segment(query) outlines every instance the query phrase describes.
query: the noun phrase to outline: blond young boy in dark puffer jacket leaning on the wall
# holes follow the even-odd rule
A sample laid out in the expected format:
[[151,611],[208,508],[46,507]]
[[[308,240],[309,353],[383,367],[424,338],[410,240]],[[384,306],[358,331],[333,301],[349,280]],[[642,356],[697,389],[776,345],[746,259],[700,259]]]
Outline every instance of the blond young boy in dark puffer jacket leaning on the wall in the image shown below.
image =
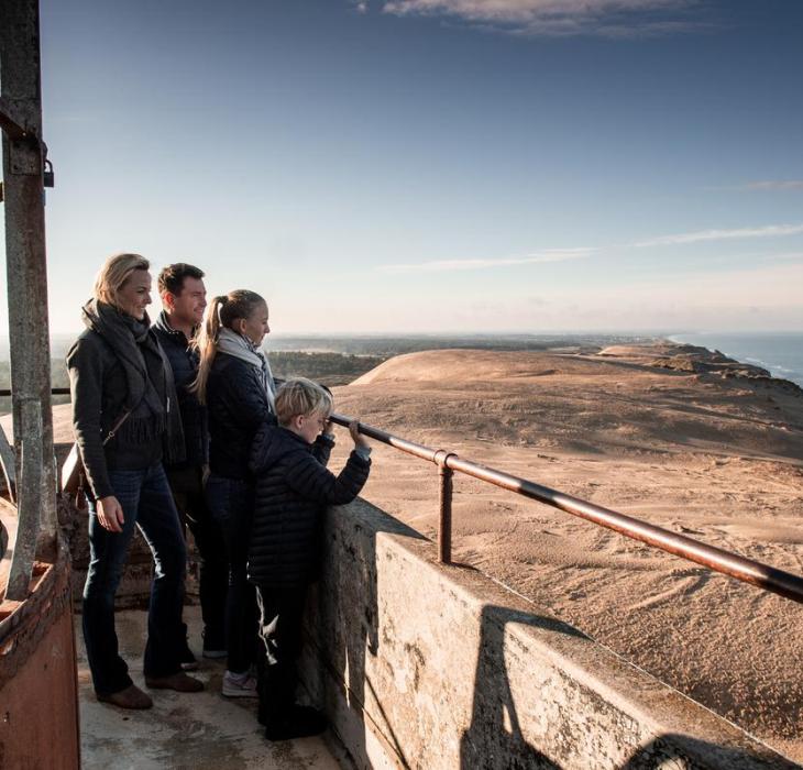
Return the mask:
[[307,586],[318,565],[321,517],[328,505],[353,501],[371,469],[371,448],[349,426],[354,450],[340,475],[326,468],[334,444],[331,396],[309,380],[276,393],[277,426],[263,425],[251,451],[255,480],[249,580],[260,605],[260,723],[268,740],[317,735],[323,715],[295,702],[296,658]]

